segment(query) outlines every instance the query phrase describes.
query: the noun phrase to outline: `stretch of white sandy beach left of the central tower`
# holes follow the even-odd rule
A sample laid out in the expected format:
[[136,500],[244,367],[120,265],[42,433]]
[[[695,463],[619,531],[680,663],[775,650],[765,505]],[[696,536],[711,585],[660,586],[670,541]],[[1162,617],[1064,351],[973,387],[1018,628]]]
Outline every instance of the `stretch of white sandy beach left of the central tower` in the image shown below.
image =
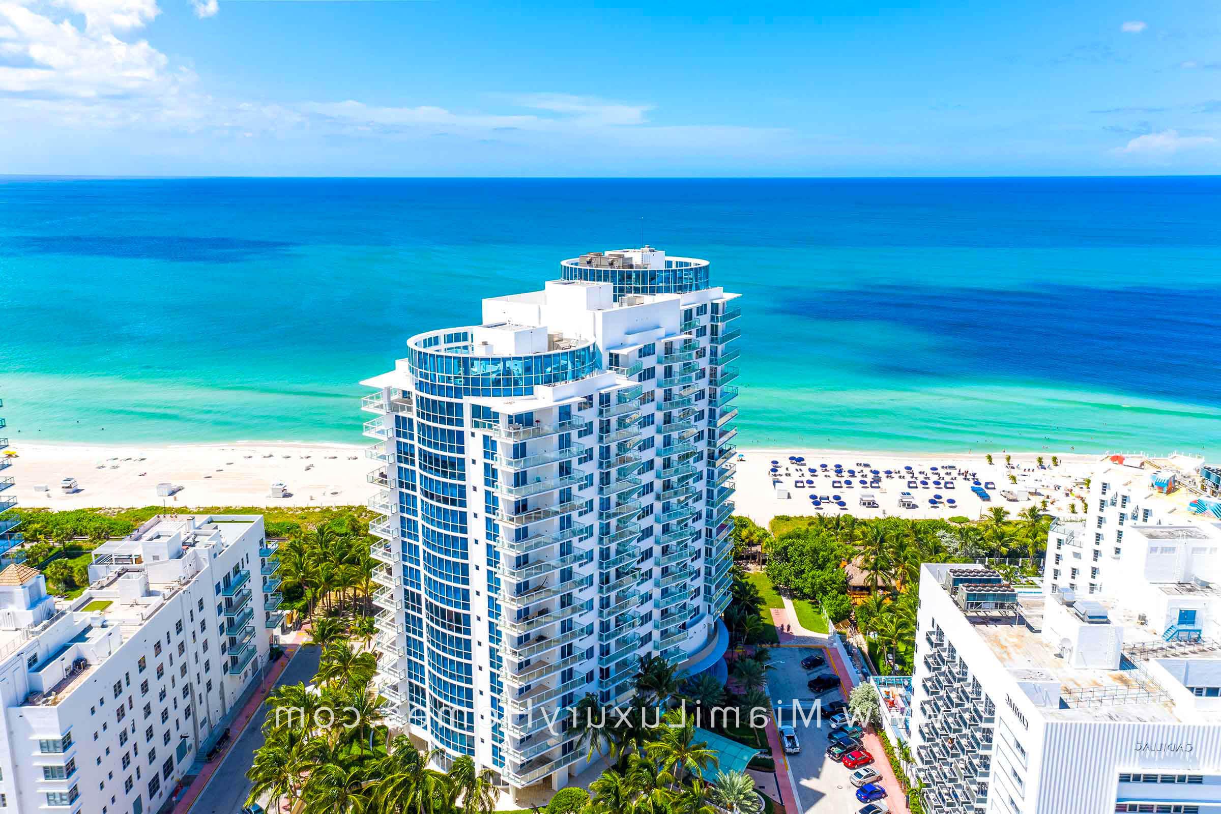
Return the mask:
[[[18,458],[5,470],[16,478],[20,505],[271,506],[355,505],[376,491],[365,476],[377,461],[349,444],[233,443],[182,445],[76,445],[16,442]],[[67,494],[60,481],[74,477]],[[159,497],[158,483],[181,487]],[[291,497],[272,498],[282,482]],[[38,487],[45,486],[46,491]]]

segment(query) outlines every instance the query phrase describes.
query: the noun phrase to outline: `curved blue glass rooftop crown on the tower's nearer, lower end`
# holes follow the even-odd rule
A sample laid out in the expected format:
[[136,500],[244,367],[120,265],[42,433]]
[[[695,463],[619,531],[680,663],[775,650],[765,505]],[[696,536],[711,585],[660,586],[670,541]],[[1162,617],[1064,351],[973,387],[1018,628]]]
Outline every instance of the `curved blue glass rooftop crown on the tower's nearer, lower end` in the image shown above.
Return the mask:
[[429,395],[530,395],[535,384],[558,384],[598,371],[601,354],[591,342],[569,350],[521,356],[473,356],[469,331],[426,333],[408,340],[415,389]]

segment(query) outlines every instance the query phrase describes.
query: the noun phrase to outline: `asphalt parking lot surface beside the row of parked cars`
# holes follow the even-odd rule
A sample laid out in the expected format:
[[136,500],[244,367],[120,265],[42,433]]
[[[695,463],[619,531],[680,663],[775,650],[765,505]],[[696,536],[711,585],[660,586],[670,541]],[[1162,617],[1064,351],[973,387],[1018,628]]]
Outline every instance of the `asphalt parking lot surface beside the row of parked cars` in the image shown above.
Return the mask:
[[[807,655],[821,654],[825,664],[813,670],[805,670],[801,660]],[[844,814],[856,812],[861,803],[856,801],[855,787],[849,782],[852,773],[827,757],[828,724],[819,727],[817,707],[830,701],[842,699],[839,690],[833,690],[817,698],[806,688],[806,682],[822,674],[834,674],[827,649],[822,647],[779,647],[772,650],[772,664],[775,670],[768,680],[773,704],[780,704],[778,718],[781,724],[795,724],[797,740],[801,741],[799,754],[786,755],[792,779],[797,787],[797,802],[801,814]],[[806,722],[794,722],[792,702],[797,702]],[[813,716],[811,718],[811,713]],[[779,762],[777,770],[783,771]],[[781,777],[781,782],[786,779]]]

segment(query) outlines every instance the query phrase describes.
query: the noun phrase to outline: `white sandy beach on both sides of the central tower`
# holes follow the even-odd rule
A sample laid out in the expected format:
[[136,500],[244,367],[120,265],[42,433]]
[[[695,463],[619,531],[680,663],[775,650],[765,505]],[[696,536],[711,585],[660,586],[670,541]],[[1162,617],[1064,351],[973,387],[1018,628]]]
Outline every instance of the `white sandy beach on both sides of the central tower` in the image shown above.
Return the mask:
[[[181,444],[181,445],[76,445],[16,443],[12,447],[18,453],[13,466],[5,475],[16,478],[15,491],[20,505],[51,506],[55,509],[78,509],[84,506],[144,506],[162,504],[166,506],[210,506],[210,505],[357,505],[365,503],[376,491],[366,481],[366,475],[379,469],[377,461],[364,456],[364,448],[349,444],[309,444],[309,443],[270,443],[248,442],[231,444]],[[797,466],[789,463],[790,455],[806,459],[801,478],[813,478],[813,487],[796,488]],[[1090,464],[1100,455],[1062,455],[1060,465],[1040,470],[1035,455],[1015,454],[1015,469],[1006,470],[1004,453],[993,453],[994,464],[989,466],[983,455],[941,454],[941,453],[868,453],[850,450],[818,449],[742,449],[737,461],[737,474],[734,482],[737,493],[734,498],[737,514],[746,515],[759,524],[766,524],[775,515],[813,515],[808,494],[839,494],[847,504],[844,509],[829,505],[818,514],[852,514],[858,517],[904,516],[904,517],[950,517],[966,515],[978,517],[989,505],[1001,505],[1017,514],[1032,503],[1044,497],[1051,510],[1067,511],[1066,502],[1073,483],[1087,475]],[[770,475],[772,460],[780,461],[779,476]],[[1044,463],[1050,464],[1050,454],[1044,454]],[[868,469],[902,472],[911,466],[918,474],[929,472],[929,486],[908,488],[907,478],[883,476],[880,488],[855,486],[853,488],[833,488],[833,480],[822,474],[810,475],[808,467],[828,464],[829,469],[839,463],[844,469],[860,469],[857,464],[869,464]],[[932,475],[929,467],[937,466],[938,474],[947,465],[958,471],[978,472],[980,481],[993,481],[991,502],[983,503],[972,494],[969,480],[955,481],[952,491],[933,484],[941,480]],[[1009,482],[1009,475],[1018,478],[1016,486]],[[60,481],[74,477],[79,489],[66,494],[60,488]],[[860,480],[860,478],[856,478]],[[159,497],[159,483],[173,483],[181,487],[173,497]],[[272,498],[271,483],[282,482],[291,497]],[[777,497],[775,484],[779,482],[788,492],[788,499]],[[943,481],[944,482],[944,481]],[[45,486],[46,489],[38,487]],[[1060,487],[1059,489],[1056,487]],[[1038,491],[1042,494],[1029,499],[1010,502],[1001,491]],[[911,492],[917,508],[901,509],[900,494]],[[877,508],[860,504],[862,494],[872,494]],[[950,506],[944,500],[937,506],[928,499],[934,494],[954,498],[956,505]]]

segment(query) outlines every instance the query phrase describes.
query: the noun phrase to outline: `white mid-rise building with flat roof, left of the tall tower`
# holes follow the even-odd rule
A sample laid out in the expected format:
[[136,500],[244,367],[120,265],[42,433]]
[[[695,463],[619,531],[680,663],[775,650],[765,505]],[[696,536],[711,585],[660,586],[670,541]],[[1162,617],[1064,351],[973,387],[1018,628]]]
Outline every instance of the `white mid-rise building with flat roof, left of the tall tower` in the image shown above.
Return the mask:
[[276,565],[261,516],[159,516],[76,599],[0,571],[0,812],[159,810],[266,666]]

